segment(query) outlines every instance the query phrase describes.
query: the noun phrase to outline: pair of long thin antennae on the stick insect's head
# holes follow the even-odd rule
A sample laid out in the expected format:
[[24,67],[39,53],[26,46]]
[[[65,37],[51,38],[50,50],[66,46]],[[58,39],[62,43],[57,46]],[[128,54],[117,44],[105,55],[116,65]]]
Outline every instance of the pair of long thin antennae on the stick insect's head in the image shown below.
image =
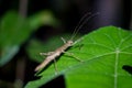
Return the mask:
[[87,18],[88,14],[91,14],[91,13],[87,12],[87,13],[80,19],[79,23],[77,24],[77,26],[75,28],[75,30],[74,30],[74,32],[73,32],[73,35],[72,35],[70,40],[73,40],[73,38],[76,36],[76,34],[78,33],[78,31],[82,28],[82,25],[84,25],[89,19],[96,16],[97,14],[99,14],[99,12],[97,12],[97,13],[90,15],[89,18]]

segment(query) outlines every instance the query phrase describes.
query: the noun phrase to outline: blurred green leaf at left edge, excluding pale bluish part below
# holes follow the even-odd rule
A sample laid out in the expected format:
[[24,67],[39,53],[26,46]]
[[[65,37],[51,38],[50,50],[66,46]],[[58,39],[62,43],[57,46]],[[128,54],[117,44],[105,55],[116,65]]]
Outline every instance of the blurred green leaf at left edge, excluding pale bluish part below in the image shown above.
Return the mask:
[[0,28],[1,46],[21,44],[32,31],[24,18],[11,11],[2,18]]

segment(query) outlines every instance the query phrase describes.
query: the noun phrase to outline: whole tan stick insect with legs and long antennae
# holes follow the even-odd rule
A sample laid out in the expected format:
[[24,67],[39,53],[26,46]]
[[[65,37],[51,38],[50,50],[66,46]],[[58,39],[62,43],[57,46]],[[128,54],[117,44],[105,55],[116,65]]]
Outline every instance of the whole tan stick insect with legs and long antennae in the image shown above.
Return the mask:
[[[61,54],[63,54],[63,53],[67,53],[67,52],[65,52],[65,51],[66,51],[68,47],[70,47],[70,46],[74,45],[74,41],[73,41],[73,40],[74,40],[74,37],[76,36],[76,34],[78,33],[78,31],[82,28],[82,25],[84,25],[90,18],[92,18],[92,16],[95,16],[95,15],[97,15],[97,13],[96,13],[96,14],[92,14],[92,15],[89,16],[89,18],[87,18],[87,16],[88,16],[88,13],[85,14],[85,15],[80,19],[78,25],[75,28],[70,40],[69,40],[69,41],[65,41],[65,40],[62,37],[62,40],[63,40],[63,42],[64,42],[64,45],[63,45],[63,46],[56,48],[54,52],[40,53],[41,55],[46,55],[47,57],[46,57],[38,66],[36,66],[36,68],[35,68],[34,70],[37,72],[37,70],[44,68],[44,67],[45,67],[46,65],[48,65],[52,61],[54,61],[54,64],[55,64],[55,63],[56,63],[55,58],[58,57],[58,56],[61,56]],[[85,19],[86,19],[86,21],[84,21]],[[82,21],[84,21],[84,22],[82,22]],[[68,53],[67,53],[67,54],[68,54]],[[74,57],[74,58],[76,58],[77,61],[81,62],[81,61],[80,61],[79,58],[77,58],[77,57]],[[57,70],[56,65],[55,65],[55,70]]]

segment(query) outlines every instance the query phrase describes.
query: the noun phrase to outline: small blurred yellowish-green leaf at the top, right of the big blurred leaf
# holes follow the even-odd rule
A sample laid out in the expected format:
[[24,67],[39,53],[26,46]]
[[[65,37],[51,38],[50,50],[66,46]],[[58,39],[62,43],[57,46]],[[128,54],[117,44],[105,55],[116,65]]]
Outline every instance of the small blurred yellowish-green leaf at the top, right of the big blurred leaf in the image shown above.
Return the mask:
[[37,29],[42,25],[57,26],[59,24],[58,20],[55,18],[52,11],[44,10],[29,18],[30,25],[32,29]]

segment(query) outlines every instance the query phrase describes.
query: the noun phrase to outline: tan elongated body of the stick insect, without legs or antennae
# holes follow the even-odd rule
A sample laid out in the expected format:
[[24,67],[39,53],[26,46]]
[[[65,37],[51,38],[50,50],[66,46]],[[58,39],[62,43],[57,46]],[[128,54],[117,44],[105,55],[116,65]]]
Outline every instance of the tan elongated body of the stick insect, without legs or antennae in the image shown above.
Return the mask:
[[[73,41],[67,41],[63,46],[61,46],[59,48],[57,48],[55,52],[47,53],[47,57],[45,58],[45,61],[42,64],[40,64],[35,68],[35,72],[44,68],[48,63],[51,63],[52,61],[54,61],[57,56],[59,56],[62,53],[64,53],[65,50],[67,50],[72,45],[73,45]],[[44,53],[41,53],[41,54],[44,54]]]

